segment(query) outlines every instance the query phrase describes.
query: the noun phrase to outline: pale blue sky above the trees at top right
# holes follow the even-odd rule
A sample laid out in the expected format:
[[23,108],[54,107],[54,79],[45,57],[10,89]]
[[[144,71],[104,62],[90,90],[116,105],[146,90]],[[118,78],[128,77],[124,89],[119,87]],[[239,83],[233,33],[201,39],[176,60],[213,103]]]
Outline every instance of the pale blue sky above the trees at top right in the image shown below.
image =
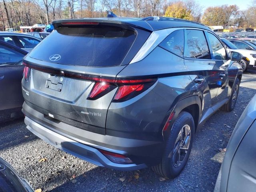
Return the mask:
[[196,0],[199,4],[204,6],[204,10],[209,6],[220,6],[223,4],[236,4],[240,10],[245,10],[251,5],[251,0]]

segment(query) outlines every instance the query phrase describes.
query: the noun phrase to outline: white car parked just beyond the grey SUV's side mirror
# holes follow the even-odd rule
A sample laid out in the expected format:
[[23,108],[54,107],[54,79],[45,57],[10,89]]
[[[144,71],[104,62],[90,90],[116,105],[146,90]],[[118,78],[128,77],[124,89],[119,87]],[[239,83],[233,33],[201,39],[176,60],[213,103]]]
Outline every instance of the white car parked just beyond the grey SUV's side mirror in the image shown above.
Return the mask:
[[254,58],[254,56],[256,56],[256,51],[246,50],[246,49],[238,49],[229,40],[224,39],[224,38],[220,38],[220,39],[226,45],[228,52],[236,51],[243,55],[243,58],[240,61],[238,61],[238,63],[240,64],[240,66],[243,69],[243,72],[247,70],[248,66],[252,66],[252,67],[254,66],[254,64],[256,62],[256,58]]

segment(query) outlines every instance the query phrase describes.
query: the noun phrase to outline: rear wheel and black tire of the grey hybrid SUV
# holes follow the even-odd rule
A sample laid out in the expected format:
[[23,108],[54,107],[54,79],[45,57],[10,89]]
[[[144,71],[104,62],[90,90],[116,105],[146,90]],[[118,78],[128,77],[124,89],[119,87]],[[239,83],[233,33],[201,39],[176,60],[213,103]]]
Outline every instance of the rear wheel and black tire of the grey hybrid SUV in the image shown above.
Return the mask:
[[[188,133],[187,136],[189,137],[184,137],[186,135],[185,132]],[[192,115],[188,112],[182,111],[172,126],[160,164],[152,166],[152,170],[164,178],[177,177],[182,172],[188,161],[188,157],[192,149],[194,132],[195,124]],[[187,150],[179,148],[182,143],[181,135],[183,135],[183,138],[188,138],[188,142],[183,142],[182,146],[182,148],[187,148]],[[184,139],[184,141],[185,140],[186,139]],[[182,162],[177,161],[179,154]]]

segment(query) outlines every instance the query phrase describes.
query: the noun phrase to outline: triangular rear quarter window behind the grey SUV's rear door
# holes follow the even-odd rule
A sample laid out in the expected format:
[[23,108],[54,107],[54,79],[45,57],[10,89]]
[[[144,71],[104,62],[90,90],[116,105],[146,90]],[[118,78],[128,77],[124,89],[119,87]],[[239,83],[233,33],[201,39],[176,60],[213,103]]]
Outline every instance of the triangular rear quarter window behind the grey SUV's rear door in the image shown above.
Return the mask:
[[180,57],[184,54],[184,30],[176,30],[168,35],[160,44],[160,47]]

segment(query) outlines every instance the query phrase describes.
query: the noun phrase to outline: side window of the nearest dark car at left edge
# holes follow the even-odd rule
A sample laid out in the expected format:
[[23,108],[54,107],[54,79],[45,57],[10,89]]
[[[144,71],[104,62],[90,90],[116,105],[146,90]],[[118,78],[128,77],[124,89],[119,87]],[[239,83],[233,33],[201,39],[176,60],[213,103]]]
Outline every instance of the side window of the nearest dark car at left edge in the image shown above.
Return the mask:
[[6,65],[22,65],[24,54],[0,45],[0,67]]

